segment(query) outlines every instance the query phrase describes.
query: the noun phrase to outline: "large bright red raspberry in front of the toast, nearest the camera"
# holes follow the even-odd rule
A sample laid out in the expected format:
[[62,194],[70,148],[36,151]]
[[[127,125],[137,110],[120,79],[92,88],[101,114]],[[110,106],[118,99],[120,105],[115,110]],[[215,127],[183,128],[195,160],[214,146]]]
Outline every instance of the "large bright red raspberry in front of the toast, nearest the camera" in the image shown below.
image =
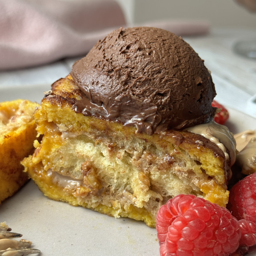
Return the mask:
[[239,223],[224,207],[177,195],[157,212],[161,256],[228,256],[239,247]]

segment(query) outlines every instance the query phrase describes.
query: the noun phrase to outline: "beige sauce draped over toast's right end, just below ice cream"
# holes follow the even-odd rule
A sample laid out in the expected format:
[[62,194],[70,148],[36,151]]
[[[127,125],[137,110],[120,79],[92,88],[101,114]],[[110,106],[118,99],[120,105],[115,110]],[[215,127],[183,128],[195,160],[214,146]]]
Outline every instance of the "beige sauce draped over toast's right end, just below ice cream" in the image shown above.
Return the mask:
[[[219,125],[216,122],[211,121],[205,124],[186,128],[185,131],[200,134],[201,136],[204,136],[211,142],[215,143],[223,151],[226,160],[230,157],[231,166],[235,163],[236,140],[225,125]],[[226,148],[228,149],[230,155],[227,153]]]

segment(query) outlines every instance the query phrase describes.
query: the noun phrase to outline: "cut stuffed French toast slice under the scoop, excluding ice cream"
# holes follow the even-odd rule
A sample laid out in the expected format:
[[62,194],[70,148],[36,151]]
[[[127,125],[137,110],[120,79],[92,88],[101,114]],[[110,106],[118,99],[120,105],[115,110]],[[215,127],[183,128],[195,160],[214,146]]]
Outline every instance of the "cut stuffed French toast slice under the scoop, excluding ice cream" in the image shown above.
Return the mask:
[[22,163],[44,195],[150,227],[159,207],[181,193],[227,204],[230,166],[217,145],[188,131],[148,135],[76,113],[80,93],[69,75],[35,112],[44,137]]

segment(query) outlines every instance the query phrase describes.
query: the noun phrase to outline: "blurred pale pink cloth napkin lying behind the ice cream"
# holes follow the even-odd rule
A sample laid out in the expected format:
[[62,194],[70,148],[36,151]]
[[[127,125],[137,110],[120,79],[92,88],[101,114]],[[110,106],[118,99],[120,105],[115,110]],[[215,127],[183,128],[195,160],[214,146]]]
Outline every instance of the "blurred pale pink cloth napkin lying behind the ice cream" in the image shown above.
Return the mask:
[[[85,55],[113,29],[126,26],[114,0],[0,0],[0,70],[32,67]],[[207,23],[157,21],[140,24],[177,35],[207,33]]]

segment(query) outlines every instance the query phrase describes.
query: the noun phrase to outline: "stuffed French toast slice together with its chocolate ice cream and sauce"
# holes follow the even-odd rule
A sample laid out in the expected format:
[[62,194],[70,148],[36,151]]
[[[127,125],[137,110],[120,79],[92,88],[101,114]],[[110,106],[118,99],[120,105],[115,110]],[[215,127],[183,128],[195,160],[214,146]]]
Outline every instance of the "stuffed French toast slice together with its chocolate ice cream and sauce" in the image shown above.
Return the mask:
[[193,194],[225,206],[236,143],[213,121],[204,61],[163,29],[120,28],[52,84],[35,112],[26,172],[49,198],[156,224]]

